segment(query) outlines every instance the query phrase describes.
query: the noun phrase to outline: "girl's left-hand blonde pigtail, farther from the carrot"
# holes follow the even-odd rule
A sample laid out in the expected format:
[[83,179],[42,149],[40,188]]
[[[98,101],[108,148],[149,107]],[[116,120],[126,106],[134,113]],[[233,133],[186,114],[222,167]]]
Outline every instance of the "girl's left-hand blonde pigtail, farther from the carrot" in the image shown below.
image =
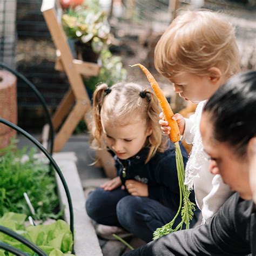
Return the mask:
[[100,121],[100,111],[107,89],[108,87],[106,84],[100,84],[96,87],[96,90],[93,93],[90,143],[94,149],[100,149],[102,147],[102,123]]

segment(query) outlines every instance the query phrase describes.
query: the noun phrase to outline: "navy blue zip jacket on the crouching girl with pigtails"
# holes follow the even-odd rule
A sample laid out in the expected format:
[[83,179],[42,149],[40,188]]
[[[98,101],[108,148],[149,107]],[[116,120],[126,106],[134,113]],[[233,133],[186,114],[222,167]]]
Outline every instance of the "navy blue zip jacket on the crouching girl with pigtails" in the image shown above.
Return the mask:
[[[184,165],[187,162],[187,152],[180,144],[183,154]],[[113,152],[111,152],[112,155]],[[134,179],[147,184],[149,198],[159,201],[172,210],[179,207],[179,183],[176,169],[176,155],[173,143],[169,142],[165,152],[157,152],[148,163],[145,160],[149,148],[144,147],[136,156],[129,159],[119,159],[114,155],[117,174],[123,185],[128,179]],[[191,201],[195,203],[194,192],[190,195]]]

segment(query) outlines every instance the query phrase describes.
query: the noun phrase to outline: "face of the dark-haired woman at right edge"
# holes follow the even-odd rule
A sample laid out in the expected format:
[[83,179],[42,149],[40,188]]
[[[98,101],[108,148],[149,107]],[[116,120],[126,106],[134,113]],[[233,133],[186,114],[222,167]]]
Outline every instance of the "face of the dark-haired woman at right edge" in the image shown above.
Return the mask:
[[231,145],[213,139],[212,125],[209,116],[203,113],[200,132],[204,150],[210,157],[210,172],[220,174],[231,190],[237,191],[243,199],[252,199],[248,174],[247,158],[238,157]]

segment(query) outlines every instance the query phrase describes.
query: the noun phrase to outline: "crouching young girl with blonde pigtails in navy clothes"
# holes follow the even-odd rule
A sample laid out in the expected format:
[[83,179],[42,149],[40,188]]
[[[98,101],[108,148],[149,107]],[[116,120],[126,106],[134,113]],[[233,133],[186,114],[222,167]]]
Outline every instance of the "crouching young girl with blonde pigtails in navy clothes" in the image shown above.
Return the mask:
[[[111,226],[109,234],[124,230],[149,242],[156,228],[176,215],[180,200],[175,151],[158,125],[157,98],[150,87],[135,83],[102,84],[93,94],[92,111],[91,145],[110,150],[117,177],[89,194],[87,214]],[[181,151],[186,164],[182,146]],[[197,218],[198,211],[191,226]]]

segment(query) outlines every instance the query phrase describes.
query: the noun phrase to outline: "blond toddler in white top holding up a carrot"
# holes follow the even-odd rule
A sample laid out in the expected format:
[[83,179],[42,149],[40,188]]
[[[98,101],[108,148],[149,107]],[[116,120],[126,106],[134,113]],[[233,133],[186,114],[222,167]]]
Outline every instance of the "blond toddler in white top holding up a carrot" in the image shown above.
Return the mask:
[[[209,10],[186,11],[170,24],[159,39],[154,62],[161,75],[173,83],[179,96],[198,103],[189,118],[174,114],[180,133],[193,144],[186,165],[185,184],[194,188],[203,220],[212,217],[232,191],[220,175],[208,172],[211,160],[203,150],[199,123],[204,105],[225,81],[239,72],[239,53],[232,24],[223,15]],[[170,127],[160,114],[165,134]]]

